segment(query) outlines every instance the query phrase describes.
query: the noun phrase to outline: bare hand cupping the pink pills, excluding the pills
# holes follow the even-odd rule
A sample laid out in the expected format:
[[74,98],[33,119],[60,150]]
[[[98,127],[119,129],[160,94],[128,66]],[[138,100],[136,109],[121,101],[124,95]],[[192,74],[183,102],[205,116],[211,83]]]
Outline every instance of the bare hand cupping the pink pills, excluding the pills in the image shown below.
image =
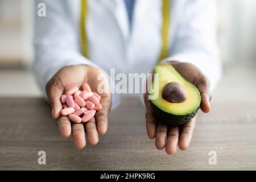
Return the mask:
[[[97,86],[102,80],[97,80],[97,76],[102,74],[101,69],[89,67],[86,65],[68,66],[60,69],[46,85],[46,92],[49,104],[52,108],[52,117],[57,119],[60,134],[68,138],[71,134],[73,142],[77,149],[84,148],[86,145],[85,131],[88,143],[95,145],[98,143],[98,133],[104,135],[108,129],[108,115],[111,107],[111,94],[98,93]],[[101,105],[103,106],[96,115],[86,123],[72,123],[68,117],[60,115],[63,109],[60,97],[68,89],[87,82],[94,92],[101,96]],[[104,85],[109,86],[108,80],[104,79]]]

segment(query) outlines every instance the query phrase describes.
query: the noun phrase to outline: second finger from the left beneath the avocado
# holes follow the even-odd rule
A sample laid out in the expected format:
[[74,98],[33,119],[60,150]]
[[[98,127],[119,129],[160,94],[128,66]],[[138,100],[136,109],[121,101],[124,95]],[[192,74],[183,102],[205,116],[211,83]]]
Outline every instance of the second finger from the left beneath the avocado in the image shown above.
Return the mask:
[[167,125],[158,123],[155,134],[155,146],[158,150],[163,150],[166,146]]

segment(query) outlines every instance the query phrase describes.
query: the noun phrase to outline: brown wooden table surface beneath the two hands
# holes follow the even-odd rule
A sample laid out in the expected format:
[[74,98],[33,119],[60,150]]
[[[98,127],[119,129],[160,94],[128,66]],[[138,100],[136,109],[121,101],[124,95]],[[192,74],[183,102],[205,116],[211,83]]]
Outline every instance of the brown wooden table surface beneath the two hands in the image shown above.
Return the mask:
[[[108,133],[84,150],[60,137],[42,98],[0,98],[0,169],[256,169],[255,104],[213,102],[211,113],[197,119],[189,150],[168,156],[147,138],[137,98],[123,98]],[[46,152],[46,165],[38,164],[38,151]],[[216,165],[209,151],[216,151]]]

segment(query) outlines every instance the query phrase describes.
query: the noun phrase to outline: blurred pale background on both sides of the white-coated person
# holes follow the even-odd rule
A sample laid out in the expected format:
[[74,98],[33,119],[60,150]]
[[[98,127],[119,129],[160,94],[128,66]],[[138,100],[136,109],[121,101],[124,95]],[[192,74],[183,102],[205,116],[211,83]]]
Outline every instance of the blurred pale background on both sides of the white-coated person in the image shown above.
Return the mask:
[[[215,100],[256,100],[256,1],[217,0],[224,77]],[[32,64],[32,0],[0,0],[0,96],[41,96]]]

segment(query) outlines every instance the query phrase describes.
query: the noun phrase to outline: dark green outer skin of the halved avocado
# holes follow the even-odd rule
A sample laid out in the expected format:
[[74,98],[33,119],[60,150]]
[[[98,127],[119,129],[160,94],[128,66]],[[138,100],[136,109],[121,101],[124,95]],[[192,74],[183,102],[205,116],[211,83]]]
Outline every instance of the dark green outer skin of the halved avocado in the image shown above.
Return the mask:
[[199,110],[199,107],[198,107],[197,109],[193,110],[192,113],[189,113],[186,115],[173,115],[159,109],[151,101],[150,101],[150,104],[157,121],[166,123],[169,126],[185,125],[185,123],[191,121],[191,119],[195,117],[197,111]]

